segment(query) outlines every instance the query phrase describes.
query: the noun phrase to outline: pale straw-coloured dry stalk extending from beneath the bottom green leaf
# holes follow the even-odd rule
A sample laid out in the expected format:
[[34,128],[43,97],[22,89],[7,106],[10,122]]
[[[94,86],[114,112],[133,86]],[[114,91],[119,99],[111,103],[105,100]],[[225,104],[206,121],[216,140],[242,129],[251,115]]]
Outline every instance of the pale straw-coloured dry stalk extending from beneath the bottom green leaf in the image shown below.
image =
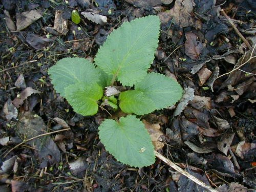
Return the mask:
[[170,167],[174,168],[175,170],[177,170],[177,172],[179,172],[180,174],[186,176],[188,179],[191,179],[192,181],[194,181],[195,183],[197,183],[198,185],[201,185],[202,187],[208,189],[211,192],[218,192],[218,190],[212,188],[209,185],[206,185],[204,182],[200,181],[199,179],[197,179],[196,177],[194,177],[193,175],[190,175],[189,173],[185,172],[185,170],[183,170],[182,168],[180,168],[179,166],[177,166],[176,164],[174,164],[172,161],[170,161],[169,159],[167,159],[166,157],[162,156],[160,153],[158,153],[157,151],[154,151],[155,155],[161,159],[162,161],[164,161],[167,165],[169,165]]

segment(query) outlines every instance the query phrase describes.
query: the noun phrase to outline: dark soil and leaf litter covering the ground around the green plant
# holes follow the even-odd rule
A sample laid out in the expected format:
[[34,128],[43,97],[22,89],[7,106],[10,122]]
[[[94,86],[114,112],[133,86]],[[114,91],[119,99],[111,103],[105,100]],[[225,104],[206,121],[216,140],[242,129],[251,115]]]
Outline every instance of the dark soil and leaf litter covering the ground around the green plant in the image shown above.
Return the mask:
[[[212,2],[216,1],[2,0],[0,191],[206,191],[159,159],[143,168],[116,161],[97,135],[107,114],[74,113],[55,93],[47,73],[64,57],[93,60],[113,29],[146,15],[159,15],[161,20],[150,71],[176,78],[186,93],[184,110],[175,117],[175,107],[142,117],[161,125],[164,147],[159,153],[219,191],[256,189],[256,59],[251,58],[255,2]],[[30,10],[41,17],[25,29],[11,29],[12,22],[17,27],[18,16]],[[78,25],[71,21],[72,10],[81,16]],[[53,29],[57,11],[63,19],[59,22],[68,26],[62,34]],[[95,24],[82,11],[107,16],[108,22]],[[68,127],[71,130],[61,131]],[[59,132],[15,147],[53,131]]]

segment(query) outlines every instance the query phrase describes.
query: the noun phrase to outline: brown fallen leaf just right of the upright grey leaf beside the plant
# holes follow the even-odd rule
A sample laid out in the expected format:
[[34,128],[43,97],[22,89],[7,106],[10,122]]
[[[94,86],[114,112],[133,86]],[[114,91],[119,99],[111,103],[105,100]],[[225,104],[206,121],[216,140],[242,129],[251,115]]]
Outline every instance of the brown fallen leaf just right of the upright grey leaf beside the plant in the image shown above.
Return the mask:
[[189,104],[197,110],[202,110],[203,108],[211,110],[211,98],[210,97],[203,97],[200,95],[195,95],[194,99],[189,101]]

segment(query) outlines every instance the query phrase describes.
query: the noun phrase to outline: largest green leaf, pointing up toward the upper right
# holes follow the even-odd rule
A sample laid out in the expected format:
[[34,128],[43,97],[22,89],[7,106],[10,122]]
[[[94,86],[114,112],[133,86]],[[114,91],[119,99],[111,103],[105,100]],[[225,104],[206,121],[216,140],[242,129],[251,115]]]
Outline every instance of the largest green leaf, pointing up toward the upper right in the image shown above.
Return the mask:
[[153,15],[123,23],[98,50],[96,65],[123,86],[133,86],[153,62],[159,30],[160,20]]

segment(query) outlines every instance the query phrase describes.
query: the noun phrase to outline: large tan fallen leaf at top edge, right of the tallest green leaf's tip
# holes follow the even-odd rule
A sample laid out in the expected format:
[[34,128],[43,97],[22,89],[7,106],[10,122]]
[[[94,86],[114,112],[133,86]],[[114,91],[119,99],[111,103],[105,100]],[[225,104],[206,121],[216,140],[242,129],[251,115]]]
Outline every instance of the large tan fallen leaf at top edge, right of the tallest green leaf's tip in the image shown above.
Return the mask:
[[194,19],[191,16],[193,7],[196,4],[193,0],[176,0],[174,7],[170,10],[174,22],[180,27],[188,27],[194,25]]

